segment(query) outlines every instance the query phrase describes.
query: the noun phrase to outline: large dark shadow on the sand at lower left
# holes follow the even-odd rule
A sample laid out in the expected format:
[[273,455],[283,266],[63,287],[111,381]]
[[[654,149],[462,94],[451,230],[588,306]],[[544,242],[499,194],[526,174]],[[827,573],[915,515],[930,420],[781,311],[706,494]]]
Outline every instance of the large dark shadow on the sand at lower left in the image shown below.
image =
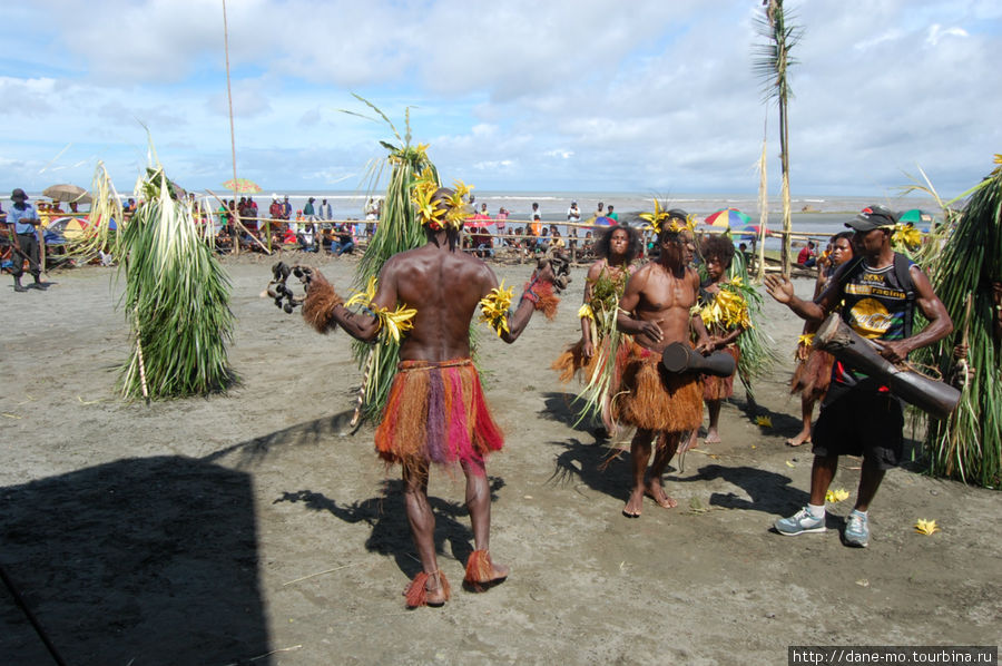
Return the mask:
[[[271,649],[252,492],[177,456],[9,486],[0,565],[69,664],[244,663]],[[0,663],[53,663],[3,587]]]

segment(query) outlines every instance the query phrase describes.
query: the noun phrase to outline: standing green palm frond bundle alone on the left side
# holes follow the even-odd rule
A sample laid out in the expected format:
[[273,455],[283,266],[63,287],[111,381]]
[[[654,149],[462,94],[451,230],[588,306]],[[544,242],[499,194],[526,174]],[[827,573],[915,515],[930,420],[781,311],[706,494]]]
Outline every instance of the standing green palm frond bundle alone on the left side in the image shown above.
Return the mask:
[[226,356],[234,329],[229,278],[163,167],[149,169],[136,194],[143,203],[117,246],[135,341],[121,393],[137,398],[144,383],[153,399],[225,389],[236,379]]

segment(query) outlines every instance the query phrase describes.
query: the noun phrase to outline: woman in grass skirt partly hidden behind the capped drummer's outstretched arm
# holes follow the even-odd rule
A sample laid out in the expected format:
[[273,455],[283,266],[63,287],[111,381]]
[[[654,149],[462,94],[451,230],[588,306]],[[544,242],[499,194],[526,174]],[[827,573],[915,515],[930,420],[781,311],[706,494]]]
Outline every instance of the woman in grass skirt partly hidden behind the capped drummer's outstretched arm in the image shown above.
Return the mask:
[[[853,258],[852,238],[852,232],[842,232],[832,237],[831,261],[827,266],[817,272],[817,282],[814,285],[815,298],[825,291],[835,270]],[[835,358],[811,346],[816,330],[817,324],[806,322],[804,333],[797,342],[797,369],[789,383],[789,392],[800,394],[800,417],[804,427],[796,437],[786,440],[786,444],[789,447],[811,443],[811,419],[814,415],[814,404],[824,399],[832,381],[832,366],[835,364]]]

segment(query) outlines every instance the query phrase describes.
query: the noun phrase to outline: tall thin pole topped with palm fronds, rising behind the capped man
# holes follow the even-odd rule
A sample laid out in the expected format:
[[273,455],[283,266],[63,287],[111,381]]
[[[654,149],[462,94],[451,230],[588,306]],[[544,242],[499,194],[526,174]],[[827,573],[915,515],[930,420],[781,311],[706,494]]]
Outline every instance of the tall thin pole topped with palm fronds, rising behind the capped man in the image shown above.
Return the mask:
[[789,51],[803,36],[802,28],[794,26],[789,12],[783,8],[783,0],[764,0],[765,12],[758,17],[758,31],[765,43],[755,47],[757,55],[754,70],[762,77],[766,101],[775,99],[779,106],[779,161],[783,168],[783,274],[789,275],[790,210],[789,210],[789,124],[787,102],[789,90],[788,69],[796,65]]

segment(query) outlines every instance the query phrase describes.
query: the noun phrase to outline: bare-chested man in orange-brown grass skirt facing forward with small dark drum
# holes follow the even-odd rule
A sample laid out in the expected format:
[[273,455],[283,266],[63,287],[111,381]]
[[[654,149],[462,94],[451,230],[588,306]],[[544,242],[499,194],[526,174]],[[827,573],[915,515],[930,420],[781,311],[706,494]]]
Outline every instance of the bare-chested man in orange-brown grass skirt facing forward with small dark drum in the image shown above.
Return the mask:
[[[619,330],[633,336],[622,370],[621,394],[612,408],[617,421],[637,427],[630,442],[633,486],[622,509],[627,518],[640,516],[645,494],[665,509],[677,506],[665,493],[661,474],[681,438],[703,421],[699,375],[669,375],[660,364],[661,352],[674,342],[690,344],[690,325],[698,337],[696,350],[704,353],[709,347],[703,320],[690,316],[699,292],[699,274],[687,265],[687,257],[696,251],[686,233],[687,214],[677,208],[658,213],[656,208],[650,217],[661,252],[657,262],[646,264],[630,277],[617,320]],[[648,470],[651,441],[656,451]]]

